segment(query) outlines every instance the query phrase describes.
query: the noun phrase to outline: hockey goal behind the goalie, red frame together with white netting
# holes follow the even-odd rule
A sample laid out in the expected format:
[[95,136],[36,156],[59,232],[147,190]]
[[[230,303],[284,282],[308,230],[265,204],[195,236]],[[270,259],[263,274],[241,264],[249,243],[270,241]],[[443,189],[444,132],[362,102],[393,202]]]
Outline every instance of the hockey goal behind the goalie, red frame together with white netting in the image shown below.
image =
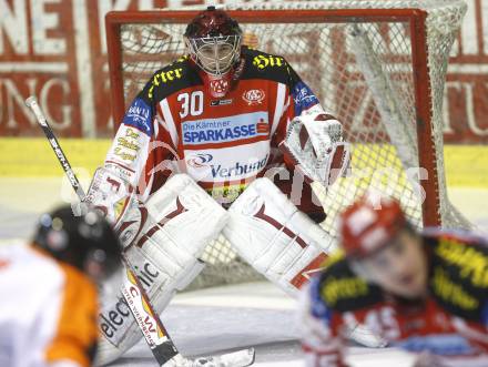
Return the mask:
[[[185,54],[182,34],[199,10],[113,11],[105,18],[112,112],[119,124],[151,75]],[[449,203],[443,161],[443,93],[460,0],[359,0],[231,4],[230,16],[283,55],[342,121],[352,174],[314,184],[336,235],[338,213],[366,190],[392,195],[417,227],[469,227]],[[254,63],[266,72],[265,60]],[[171,81],[170,81],[171,82]],[[206,249],[196,284],[255,278],[225,238]]]

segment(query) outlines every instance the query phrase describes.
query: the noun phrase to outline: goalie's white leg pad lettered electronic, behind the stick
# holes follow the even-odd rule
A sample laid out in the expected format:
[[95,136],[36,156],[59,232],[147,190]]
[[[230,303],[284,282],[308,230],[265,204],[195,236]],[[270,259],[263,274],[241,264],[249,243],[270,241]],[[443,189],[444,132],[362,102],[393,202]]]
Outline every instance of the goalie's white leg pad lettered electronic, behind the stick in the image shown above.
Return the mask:
[[[218,236],[228,214],[185,174],[171,177],[138,210],[148,212],[146,220],[125,254],[160,314],[202,271],[199,256]],[[114,360],[142,336],[122,295],[104,302],[100,328],[98,365]]]

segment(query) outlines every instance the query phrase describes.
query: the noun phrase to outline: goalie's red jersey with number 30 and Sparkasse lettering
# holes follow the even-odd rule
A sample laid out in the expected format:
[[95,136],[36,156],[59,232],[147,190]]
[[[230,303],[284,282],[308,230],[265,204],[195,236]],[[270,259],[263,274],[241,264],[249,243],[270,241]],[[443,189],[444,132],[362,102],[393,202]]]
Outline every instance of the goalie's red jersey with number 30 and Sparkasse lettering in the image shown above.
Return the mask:
[[232,202],[267,169],[283,165],[277,145],[288,122],[307,109],[322,110],[281,57],[243,48],[235,77],[216,99],[186,57],[155,72],[128,109],[105,166],[139,184],[142,195],[180,171],[222,203]]

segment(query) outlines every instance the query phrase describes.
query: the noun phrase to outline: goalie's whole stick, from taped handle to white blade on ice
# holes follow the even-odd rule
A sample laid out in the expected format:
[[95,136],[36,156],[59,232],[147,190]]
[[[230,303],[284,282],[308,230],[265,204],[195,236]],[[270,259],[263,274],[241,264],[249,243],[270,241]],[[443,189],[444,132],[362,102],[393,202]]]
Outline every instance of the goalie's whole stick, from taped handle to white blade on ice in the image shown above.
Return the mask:
[[[77,193],[80,202],[83,204],[85,193],[80,185],[70,162],[64,155],[58,139],[51,130],[48,121],[42,113],[34,96],[30,96],[26,100],[27,106],[29,106],[35,115],[39,125],[42,128],[45,137],[51,144],[58,161],[60,162],[64,173],[67,174],[71,186]],[[134,269],[129,263],[128,258],[122,253],[122,259],[126,267],[124,284],[122,285],[122,295],[130,306],[131,313],[138,323],[145,341],[148,343],[151,351],[160,366],[165,367],[245,367],[251,366],[254,363],[255,351],[254,348],[247,348],[237,350],[234,353],[227,353],[218,356],[206,356],[190,359],[183,357],[167,334],[163,323],[159,315],[154,312],[148,295],[144,292]]]

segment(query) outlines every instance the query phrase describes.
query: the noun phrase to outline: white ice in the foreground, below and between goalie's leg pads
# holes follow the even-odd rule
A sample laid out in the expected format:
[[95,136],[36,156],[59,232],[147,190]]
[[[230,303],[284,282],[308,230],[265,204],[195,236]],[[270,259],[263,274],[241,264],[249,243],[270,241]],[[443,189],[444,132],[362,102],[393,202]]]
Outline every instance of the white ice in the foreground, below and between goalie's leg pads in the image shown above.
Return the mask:
[[[240,306],[241,305],[241,306]],[[227,353],[253,346],[255,366],[303,366],[295,323],[295,300],[267,282],[176,295],[161,315],[184,356]],[[409,367],[413,357],[393,348],[350,348],[352,367]],[[141,340],[110,366],[154,366]]]

